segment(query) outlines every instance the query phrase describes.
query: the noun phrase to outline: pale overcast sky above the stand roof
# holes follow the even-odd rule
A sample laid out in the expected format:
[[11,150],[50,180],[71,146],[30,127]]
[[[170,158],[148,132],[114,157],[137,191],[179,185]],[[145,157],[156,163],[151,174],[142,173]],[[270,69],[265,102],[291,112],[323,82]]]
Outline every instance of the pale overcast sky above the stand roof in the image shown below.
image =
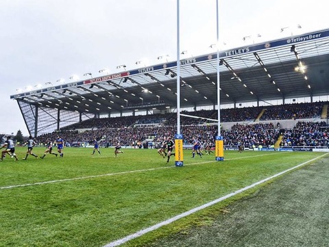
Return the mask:
[[[174,61],[176,6],[176,0],[0,0],[0,133],[29,134],[10,99],[18,88],[97,77],[103,68],[117,73],[121,64],[131,70],[139,60],[159,64],[160,55]],[[221,49],[326,29],[328,7],[328,0],[219,0]],[[216,0],[180,0],[180,51],[187,57],[212,52],[216,30]],[[251,38],[243,42],[244,36]]]

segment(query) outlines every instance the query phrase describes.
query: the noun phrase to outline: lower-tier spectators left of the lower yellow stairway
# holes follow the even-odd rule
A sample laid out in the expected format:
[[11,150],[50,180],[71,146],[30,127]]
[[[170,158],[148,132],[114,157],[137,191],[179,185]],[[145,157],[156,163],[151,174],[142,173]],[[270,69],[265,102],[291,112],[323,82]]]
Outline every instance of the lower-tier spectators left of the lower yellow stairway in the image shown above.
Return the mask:
[[[198,139],[201,142],[215,145],[215,136],[217,135],[217,125],[182,125],[180,131],[184,137],[185,144],[192,144],[193,140]],[[73,145],[77,142],[92,144],[96,138],[100,145],[106,144],[112,146],[117,142],[122,145],[136,145],[137,142],[151,140],[152,142],[161,142],[165,137],[175,135],[176,127],[156,126],[156,127],[128,127],[128,128],[110,128],[87,130],[82,133],[77,131],[60,131],[40,135],[38,143],[45,144],[49,140],[56,140],[58,135]],[[239,141],[244,146],[272,146],[278,139],[279,130],[274,129],[273,124],[256,123],[254,125],[236,124],[230,130],[221,131],[226,146],[236,146]]]

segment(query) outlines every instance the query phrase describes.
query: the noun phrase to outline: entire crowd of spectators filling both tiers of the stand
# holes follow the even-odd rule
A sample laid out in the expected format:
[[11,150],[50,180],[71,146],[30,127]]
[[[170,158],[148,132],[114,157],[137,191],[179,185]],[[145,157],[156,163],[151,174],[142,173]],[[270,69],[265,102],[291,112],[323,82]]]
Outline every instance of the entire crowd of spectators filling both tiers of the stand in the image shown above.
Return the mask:
[[[324,103],[301,103],[266,107],[263,120],[291,118],[314,118],[321,115]],[[279,126],[273,124],[254,123],[264,107],[245,107],[221,110],[222,122],[249,121],[247,125],[236,123],[230,130],[221,131],[226,146],[236,146],[243,142],[244,146],[273,146],[280,134]],[[217,110],[199,110],[195,112],[182,112],[182,114],[195,116],[180,116],[181,133],[184,143],[191,144],[195,138],[202,142],[215,145],[217,125],[210,125],[209,119],[217,119]],[[208,118],[208,119],[207,119]],[[56,140],[58,135],[67,144],[92,143],[96,138],[104,146],[112,146],[117,142],[122,145],[136,145],[145,140],[160,142],[166,136],[171,136],[177,131],[177,114],[154,114],[147,116],[123,116],[117,118],[93,118],[84,122],[71,125],[58,132],[47,133],[38,136],[39,144],[45,144],[48,140]],[[284,132],[281,146],[328,146],[326,133],[320,132],[317,123],[297,122],[292,130]],[[80,131],[78,131],[80,129]],[[81,131],[84,129],[84,131]]]

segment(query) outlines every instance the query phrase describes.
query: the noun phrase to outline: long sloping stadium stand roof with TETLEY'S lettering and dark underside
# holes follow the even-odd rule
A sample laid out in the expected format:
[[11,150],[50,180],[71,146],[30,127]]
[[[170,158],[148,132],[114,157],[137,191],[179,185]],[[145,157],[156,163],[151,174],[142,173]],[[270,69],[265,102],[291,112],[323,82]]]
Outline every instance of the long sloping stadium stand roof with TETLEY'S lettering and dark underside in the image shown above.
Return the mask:
[[[221,104],[328,95],[329,29],[220,51],[219,65]],[[177,73],[177,62],[166,62],[10,98],[30,134],[43,133],[102,114],[175,108]],[[204,105],[217,105],[217,53],[180,60],[180,107]]]

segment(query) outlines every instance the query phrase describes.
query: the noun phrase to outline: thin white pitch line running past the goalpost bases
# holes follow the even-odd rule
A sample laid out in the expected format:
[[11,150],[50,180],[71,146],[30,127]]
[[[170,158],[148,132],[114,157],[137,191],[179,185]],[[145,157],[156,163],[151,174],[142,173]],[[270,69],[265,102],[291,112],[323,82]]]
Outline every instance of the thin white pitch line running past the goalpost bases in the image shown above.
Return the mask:
[[[272,155],[267,154],[267,155]],[[264,156],[264,155],[255,155],[253,157],[259,157],[259,156]],[[243,158],[249,158],[248,157],[239,157],[239,158],[232,158],[232,159],[243,159]],[[226,160],[232,160],[232,159],[226,159]],[[205,162],[196,162],[192,164],[186,164],[185,166],[191,166],[191,165],[197,165],[197,164],[208,164],[212,162],[218,162],[218,161],[205,161]],[[117,173],[108,173],[108,174],[99,174],[99,175],[91,175],[91,176],[86,176],[86,177],[76,177],[72,179],[58,179],[58,180],[52,180],[52,181],[45,181],[45,182],[37,182],[37,183],[25,183],[21,185],[8,185],[8,186],[3,186],[0,187],[0,190],[6,190],[6,189],[13,189],[16,187],[27,187],[27,186],[33,186],[33,185],[43,185],[47,183],[60,183],[60,182],[66,182],[66,181],[75,181],[75,180],[82,180],[82,179],[94,179],[97,177],[109,177],[109,176],[114,176],[114,175],[121,175],[121,174],[129,174],[129,173],[134,173],[134,172],[149,172],[151,170],[160,170],[160,169],[167,169],[167,168],[175,168],[175,166],[165,166],[165,167],[160,167],[160,168],[149,168],[149,169],[143,169],[143,170],[131,170],[127,172],[117,172]]]

